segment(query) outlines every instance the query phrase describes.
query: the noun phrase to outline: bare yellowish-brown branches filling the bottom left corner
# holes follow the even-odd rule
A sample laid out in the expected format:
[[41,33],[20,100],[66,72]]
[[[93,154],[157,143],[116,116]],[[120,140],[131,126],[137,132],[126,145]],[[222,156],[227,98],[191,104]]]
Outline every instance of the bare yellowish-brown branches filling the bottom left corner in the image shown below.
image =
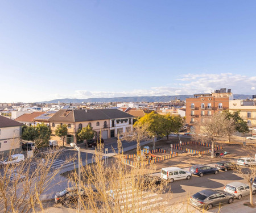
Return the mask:
[[[0,178],[1,212],[37,212],[38,207],[43,210],[40,195],[52,187],[52,180],[60,172],[62,166],[52,168],[60,153],[59,148],[56,148],[55,152],[40,153],[40,156],[35,154],[16,165],[4,165]],[[12,154],[10,151],[7,161]],[[68,161],[73,161],[73,158]]]

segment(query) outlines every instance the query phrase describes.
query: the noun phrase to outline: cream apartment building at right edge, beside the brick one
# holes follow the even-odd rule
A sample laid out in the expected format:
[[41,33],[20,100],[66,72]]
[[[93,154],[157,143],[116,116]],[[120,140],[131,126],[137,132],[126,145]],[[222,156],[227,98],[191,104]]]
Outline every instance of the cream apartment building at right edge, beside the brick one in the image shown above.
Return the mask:
[[256,134],[256,95],[253,95],[253,99],[230,100],[229,111],[238,110],[240,110],[240,116],[247,123],[249,130]]

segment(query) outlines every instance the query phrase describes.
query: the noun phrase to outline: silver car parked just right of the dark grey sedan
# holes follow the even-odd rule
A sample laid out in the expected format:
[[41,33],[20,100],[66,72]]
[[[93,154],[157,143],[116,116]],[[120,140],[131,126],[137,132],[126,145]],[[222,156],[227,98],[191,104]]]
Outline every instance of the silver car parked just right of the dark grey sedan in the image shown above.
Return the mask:
[[[249,186],[246,183],[241,183],[241,182],[231,182],[228,183],[224,191],[233,194],[235,198],[241,199],[243,196],[249,195],[250,194],[250,189]],[[253,187],[253,195],[256,194],[256,188]]]

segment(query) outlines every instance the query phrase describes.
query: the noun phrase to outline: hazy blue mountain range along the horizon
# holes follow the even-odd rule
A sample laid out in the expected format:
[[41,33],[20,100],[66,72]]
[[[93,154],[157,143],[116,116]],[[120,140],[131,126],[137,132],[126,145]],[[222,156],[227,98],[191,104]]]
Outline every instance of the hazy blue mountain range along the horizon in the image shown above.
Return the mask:
[[[51,101],[43,101],[40,103],[82,103],[82,102],[169,102],[172,100],[180,99],[185,101],[186,98],[192,98],[193,95],[162,95],[162,96],[139,96],[139,97],[117,97],[117,98],[87,98],[87,99],[77,99],[77,98],[65,98],[65,99],[54,99]],[[234,94],[234,99],[246,99],[252,98],[252,95],[241,95]]]

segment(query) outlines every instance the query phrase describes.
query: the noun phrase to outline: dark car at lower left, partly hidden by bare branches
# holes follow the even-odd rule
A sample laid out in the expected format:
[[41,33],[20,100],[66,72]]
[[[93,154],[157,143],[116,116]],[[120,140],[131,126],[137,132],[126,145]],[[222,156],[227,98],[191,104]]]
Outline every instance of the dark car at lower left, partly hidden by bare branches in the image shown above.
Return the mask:
[[[93,193],[97,193],[97,190],[94,189]],[[81,198],[85,199],[88,197],[88,195],[85,194],[84,189],[81,189]],[[68,205],[71,202],[76,202],[79,199],[79,193],[76,187],[70,187],[67,189],[64,189],[60,192],[57,192],[55,194],[55,202],[61,203],[64,205]]]

